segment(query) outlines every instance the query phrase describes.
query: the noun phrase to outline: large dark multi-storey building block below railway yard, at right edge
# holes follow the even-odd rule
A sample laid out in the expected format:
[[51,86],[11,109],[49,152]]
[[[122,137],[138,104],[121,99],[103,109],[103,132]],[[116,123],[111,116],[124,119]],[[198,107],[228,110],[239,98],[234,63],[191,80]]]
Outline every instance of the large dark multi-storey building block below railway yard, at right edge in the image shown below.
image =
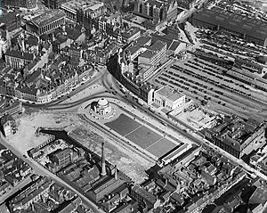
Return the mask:
[[207,140],[238,159],[264,144],[262,140],[265,126],[251,119],[245,121],[238,116],[217,119],[213,128],[202,131]]

